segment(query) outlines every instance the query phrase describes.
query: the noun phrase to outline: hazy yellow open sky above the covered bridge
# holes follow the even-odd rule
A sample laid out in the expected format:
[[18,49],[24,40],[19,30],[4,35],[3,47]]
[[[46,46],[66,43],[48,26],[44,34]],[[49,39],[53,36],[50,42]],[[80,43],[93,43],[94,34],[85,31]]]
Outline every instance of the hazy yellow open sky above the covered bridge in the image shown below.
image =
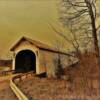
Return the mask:
[[0,0],[0,56],[22,37],[52,44],[60,39],[50,27],[62,29],[57,10],[58,0]]

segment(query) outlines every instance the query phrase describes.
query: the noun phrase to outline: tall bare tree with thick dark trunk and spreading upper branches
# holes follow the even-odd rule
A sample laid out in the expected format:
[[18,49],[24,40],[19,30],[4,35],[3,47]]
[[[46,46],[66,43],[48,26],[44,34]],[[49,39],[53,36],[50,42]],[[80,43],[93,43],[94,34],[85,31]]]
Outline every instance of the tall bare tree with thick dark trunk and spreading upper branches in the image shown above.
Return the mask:
[[61,0],[60,21],[67,26],[78,38],[85,41],[90,38],[93,41],[96,58],[99,62],[99,44],[97,33],[99,25],[96,21],[99,18],[99,0]]

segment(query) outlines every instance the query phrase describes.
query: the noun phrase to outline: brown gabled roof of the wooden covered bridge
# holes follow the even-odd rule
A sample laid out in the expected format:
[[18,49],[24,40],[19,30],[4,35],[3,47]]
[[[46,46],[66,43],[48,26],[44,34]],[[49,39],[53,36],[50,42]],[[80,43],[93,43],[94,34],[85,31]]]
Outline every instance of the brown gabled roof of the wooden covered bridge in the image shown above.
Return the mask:
[[56,49],[53,48],[53,47],[50,47],[50,46],[48,46],[48,45],[46,45],[46,44],[44,44],[44,43],[41,43],[40,41],[32,40],[32,39],[27,38],[27,37],[22,37],[22,38],[10,49],[10,51],[14,51],[14,49],[15,49],[22,41],[24,41],[24,40],[28,41],[28,42],[31,43],[32,45],[35,45],[35,46],[38,47],[39,49],[72,56],[71,54],[68,54],[68,53],[65,53],[65,52],[62,52],[62,51],[58,51],[58,50],[56,50]]

